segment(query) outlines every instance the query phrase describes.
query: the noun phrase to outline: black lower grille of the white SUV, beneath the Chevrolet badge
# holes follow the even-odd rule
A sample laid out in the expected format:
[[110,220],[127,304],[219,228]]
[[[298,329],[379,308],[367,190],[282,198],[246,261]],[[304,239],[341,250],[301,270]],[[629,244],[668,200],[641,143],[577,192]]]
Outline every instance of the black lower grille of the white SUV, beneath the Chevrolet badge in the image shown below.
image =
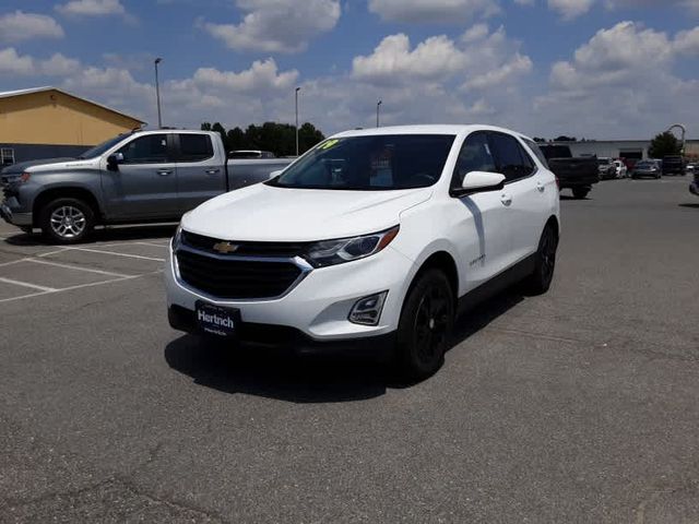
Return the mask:
[[[237,253],[236,253],[237,254]],[[301,270],[288,261],[266,262],[177,252],[180,278],[196,289],[225,299],[273,298],[284,295]]]

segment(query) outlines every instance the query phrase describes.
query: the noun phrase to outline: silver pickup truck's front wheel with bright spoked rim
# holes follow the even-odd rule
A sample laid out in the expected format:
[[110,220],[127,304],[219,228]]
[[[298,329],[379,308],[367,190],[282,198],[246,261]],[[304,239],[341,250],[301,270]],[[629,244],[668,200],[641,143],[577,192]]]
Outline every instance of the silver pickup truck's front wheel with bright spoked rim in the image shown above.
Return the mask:
[[55,243],[78,243],[95,226],[92,207],[79,199],[57,199],[44,206],[39,215],[44,236]]

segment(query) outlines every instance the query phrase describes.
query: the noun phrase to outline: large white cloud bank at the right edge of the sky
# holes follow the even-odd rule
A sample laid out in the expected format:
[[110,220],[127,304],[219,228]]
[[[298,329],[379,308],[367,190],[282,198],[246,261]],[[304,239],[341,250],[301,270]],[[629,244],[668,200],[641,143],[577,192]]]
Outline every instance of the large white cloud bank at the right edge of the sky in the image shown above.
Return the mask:
[[536,99],[535,111],[561,132],[596,138],[647,136],[695,120],[699,82],[682,80],[674,69],[680,53],[696,50],[695,29],[671,38],[621,22],[552,67],[550,91]]

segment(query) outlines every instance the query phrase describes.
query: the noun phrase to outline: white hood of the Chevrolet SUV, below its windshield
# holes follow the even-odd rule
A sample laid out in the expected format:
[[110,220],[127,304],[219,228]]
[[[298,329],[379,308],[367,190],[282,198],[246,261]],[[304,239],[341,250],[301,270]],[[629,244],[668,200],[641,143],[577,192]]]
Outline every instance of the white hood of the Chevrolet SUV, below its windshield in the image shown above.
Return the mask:
[[258,183],[212,199],[182,218],[191,233],[235,241],[315,241],[388,229],[431,188],[341,191]]

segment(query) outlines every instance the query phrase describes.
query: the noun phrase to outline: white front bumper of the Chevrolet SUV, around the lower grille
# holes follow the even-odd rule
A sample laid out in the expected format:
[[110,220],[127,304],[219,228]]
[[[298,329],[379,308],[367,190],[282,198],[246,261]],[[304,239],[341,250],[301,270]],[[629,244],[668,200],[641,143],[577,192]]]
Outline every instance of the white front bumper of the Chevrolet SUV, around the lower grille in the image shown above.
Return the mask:
[[[170,249],[165,284],[169,311],[179,311],[188,317],[193,314],[198,300],[205,300],[238,309],[242,325],[296,330],[315,344],[391,335],[398,329],[412,274],[413,262],[389,246],[380,253],[363,260],[312,270],[282,297],[227,300],[208,296],[182,283]],[[357,300],[384,290],[388,290],[388,296],[378,325],[360,325],[347,320]],[[196,326],[187,322],[174,322],[173,326],[187,332],[196,331]]]

